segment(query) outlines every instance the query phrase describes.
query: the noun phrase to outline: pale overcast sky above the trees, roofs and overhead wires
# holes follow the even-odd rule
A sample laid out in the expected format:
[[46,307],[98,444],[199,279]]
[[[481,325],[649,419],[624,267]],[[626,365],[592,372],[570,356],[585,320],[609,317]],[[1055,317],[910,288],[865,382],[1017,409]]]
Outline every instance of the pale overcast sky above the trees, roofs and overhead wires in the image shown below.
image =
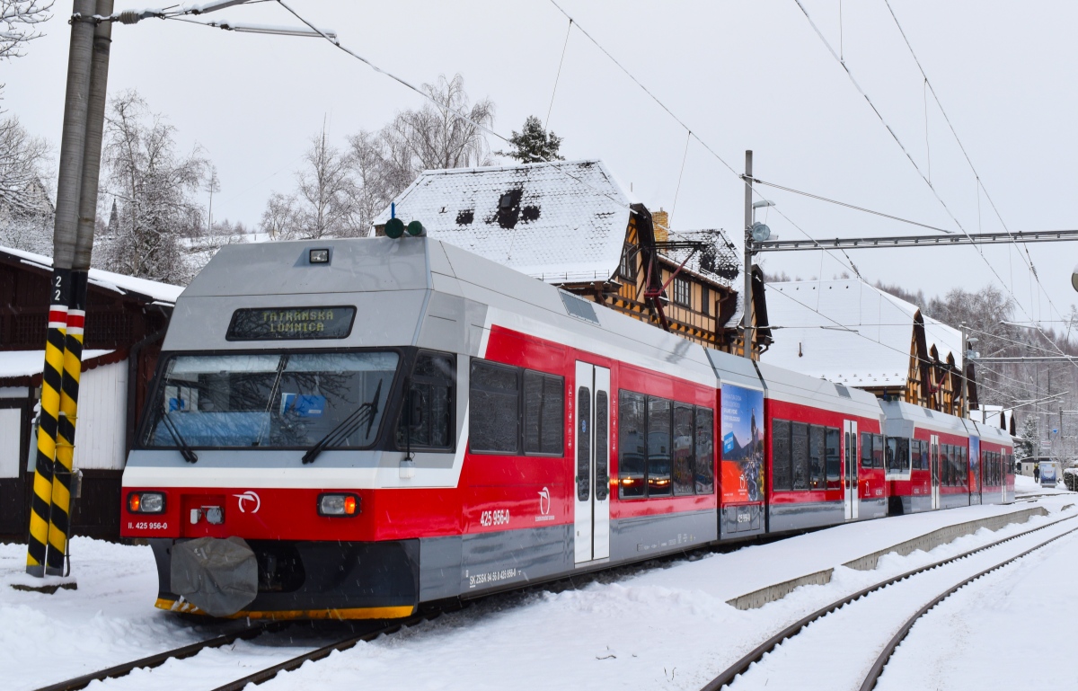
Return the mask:
[[[1001,230],[930,96],[926,108],[921,73],[884,0],[846,0],[841,22],[839,0],[802,2],[966,231]],[[1007,226],[1078,227],[1078,5],[890,2]],[[552,106],[568,20],[549,0],[290,3],[410,82],[459,72],[473,100],[496,103],[499,134],[550,110],[550,128],[565,137],[568,158],[604,160],[649,208],[674,210],[675,230],[723,227],[740,241],[741,181],[696,141],[686,155],[686,130],[577,28]],[[752,149],[760,179],[957,231],[793,0],[558,3],[736,170]],[[60,6],[70,3],[58,0]],[[298,24],[272,1],[210,16]],[[44,31],[26,57],[0,64],[0,81],[3,107],[58,150],[69,28],[54,16]],[[113,29],[109,91],[128,88],[168,118],[183,149],[197,143],[217,165],[222,189],[215,219],[247,225],[258,223],[271,191],[294,188],[303,151],[323,119],[343,142],[423,105],[320,39],[162,20]],[[765,194],[813,237],[928,233],[786,192]],[[765,220],[782,238],[801,237],[774,210]],[[1078,262],[1073,248],[1028,246],[1048,295],[1064,313],[1078,302],[1069,282]],[[1019,250],[983,252],[1004,290],[1023,305],[1020,317],[1059,318],[1037,294]],[[996,281],[971,247],[851,257],[870,281],[928,295]],[[848,271],[820,252],[773,253],[764,264],[802,278]]]

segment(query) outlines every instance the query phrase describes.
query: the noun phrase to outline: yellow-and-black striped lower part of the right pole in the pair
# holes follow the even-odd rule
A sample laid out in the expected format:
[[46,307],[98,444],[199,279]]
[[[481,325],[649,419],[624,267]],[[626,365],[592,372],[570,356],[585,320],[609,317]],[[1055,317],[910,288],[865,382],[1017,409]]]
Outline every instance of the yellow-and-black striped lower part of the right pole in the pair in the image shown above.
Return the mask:
[[56,462],[53,464],[52,511],[49,514],[47,576],[64,576],[71,534],[71,473],[74,469],[74,428],[79,417],[79,377],[82,374],[83,323],[86,319],[86,272],[71,272],[71,302],[67,313],[64,377],[56,420]]

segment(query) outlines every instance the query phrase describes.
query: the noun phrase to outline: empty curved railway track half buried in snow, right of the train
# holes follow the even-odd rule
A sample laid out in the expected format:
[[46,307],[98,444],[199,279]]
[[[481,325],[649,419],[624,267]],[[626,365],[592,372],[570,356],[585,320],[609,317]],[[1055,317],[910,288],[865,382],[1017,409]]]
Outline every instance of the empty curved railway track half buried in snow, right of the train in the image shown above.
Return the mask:
[[[833,683],[829,682],[825,685],[827,688],[844,688],[844,686],[848,686],[848,688],[851,689],[860,688],[861,691],[868,691],[875,686],[875,681],[879,678],[879,675],[882,673],[884,665],[886,665],[886,662],[889,659],[890,654],[894,652],[895,647],[897,647],[898,644],[901,642],[902,638],[909,632],[909,628],[913,625],[916,619],[918,619],[925,612],[930,610],[937,604],[945,599],[949,595],[959,590],[964,585],[977,580],[978,578],[981,578],[985,573],[994,571],[1003,566],[1006,566],[1007,564],[1010,564],[1019,558],[1022,558],[1023,556],[1029,554],[1031,552],[1039,550],[1040,548],[1045,547],[1046,544],[1049,544],[1050,542],[1053,542],[1066,535],[1070,535],[1075,531],[1078,531],[1078,526],[1061,530],[1059,531],[1058,535],[1054,535],[1048,540],[1045,540],[1029,549],[1022,551],[1019,554],[1008,553],[1003,558],[997,558],[996,561],[990,561],[987,568],[984,568],[983,570],[978,570],[978,572],[966,578],[965,580],[962,580],[962,582],[957,584],[953,584],[954,567],[949,567],[949,565],[962,563],[965,559],[975,557],[975,555],[978,555],[979,553],[992,550],[994,548],[1000,548],[1001,545],[1005,545],[1008,542],[1012,542],[1015,540],[1023,540],[1024,538],[1033,535],[1034,533],[1038,533],[1040,530],[1051,530],[1052,528],[1055,528],[1060,524],[1074,521],[1075,519],[1078,519],[1078,515],[1070,515],[1065,519],[1053,521],[1052,523],[1036,528],[1032,528],[1029,530],[1024,530],[1017,535],[1012,535],[1010,537],[996,540],[994,542],[990,542],[977,549],[963,552],[962,554],[957,554],[955,556],[945,559],[940,559],[938,562],[927,564],[920,568],[906,571],[903,573],[895,576],[894,578],[888,578],[886,580],[874,583],[873,585],[865,588],[860,591],[857,591],[852,595],[834,600],[817,609],[816,611],[803,617],[802,619],[793,622],[789,626],[786,626],[785,628],[776,633],[774,636],[761,642],[759,646],[754,648],[751,651],[749,651],[747,654],[741,658],[733,665],[731,665],[722,673],[720,673],[718,676],[716,676],[711,681],[709,681],[703,688],[703,691],[719,691],[720,689],[727,687],[728,685],[733,686],[734,680],[738,677],[741,677],[742,680],[745,680],[747,677],[749,676],[755,677],[758,674],[766,676],[768,680],[773,680],[771,676],[771,669],[773,667],[783,667],[783,666],[793,667],[793,669],[789,671],[789,673],[792,675],[790,679],[791,681],[794,681],[797,679],[803,679],[803,675],[806,674],[830,675],[831,672],[829,671],[833,669],[833,666],[830,664],[824,664],[825,660],[829,658],[833,659],[834,654],[840,651],[842,651],[842,654],[840,657],[849,657],[849,658],[856,657],[857,650],[863,649],[866,646],[871,645],[870,641],[866,640],[865,634],[871,631],[880,631],[882,628],[881,626],[882,622],[880,622],[877,612],[875,611],[880,609],[880,607],[876,607],[875,609],[871,607],[847,608],[846,607],[847,605],[851,605],[857,600],[861,600],[862,598],[867,600],[868,599],[867,596],[869,595],[885,594],[885,593],[890,594],[890,593],[896,593],[898,590],[902,590],[903,593],[893,598],[897,602],[890,604],[892,609],[898,611],[899,617],[901,617],[902,613],[909,612],[911,609],[908,602],[910,599],[911,593],[904,591],[912,589],[913,597],[916,599],[917,604],[920,604],[924,599],[923,595],[920,597],[916,596],[917,592],[941,593],[938,597],[936,597],[930,603],[921,608],[912,618],[907,620],[901,627],[888,628],[888,631],[895,631],[897,628],[898,632],[895,634],[895,636],[892,638],[890,641],[882,644],[883,653],[880,654],[880,657],[876,659],[875,663],[870,668],[869,675],[865,677],[865,680],[860,687],[857,686],[858,682],[856,680],[853,680],[852,683],[849,685],[843,685],[841,680],[830,679],[830,681],[833,681]],[[985,559],[981,559],[978,562],[978,565],[984,562]],[[949,568],[941,568],[941,567],[949,567]],[[932,582],[925,583],[923,582],[924,579],[915,579],[913,581],[910,580],[913,579],[913,577],[917,577],[923,573],[929,573],[930,581],[937,581],[937,580],[943,581],[950,588],[943,589],[941,588],[940,584],[934,584]],[[909,585],[903,586],[901,589],[893,588],[902,584],[903,581],[907,581]],[[906,598],[904,600],[903,597]],[[881,604],[880,600],[882,598],[877,595],[876,597],[873,597],[871,599],[874,605],[880,605]],[[853,612],[854,610],[856,610],[856,613],[851,614],[851,612]],[[838,621],[839,619],[843,619],[846,621],[839,622]],[[779,653],[780,650],[779,646],[783,646],[784,648],[796,647],[798,644],[801,644],[805,638],[808,638],[806,636],[801,636],[801,634],[803,634],[810,627],[810,625],[816,622],[819,622],[818,625],[826,625],[828,623],[834,624],[832,626],[834,631],[821,634],[823,639],[829,642],[824,644],[824,651],[821,651],[819,655],[816,658],[817,664],[806,665],[805,664],[806,661],[804,659],[805,655],[803,654],[804,651],[790,652],[789,654],[783,654],[783,655],[777,654]],[[854,654],[847,654],[851,652],[853,652]],[[769,655],[769,653],[772,654]],[[768,660],[766,664],[757,664],[763,662],[765,657],[772,658],[772,660]],[[776,664],[774,658],[784,658],[784,659],[778,660],[777,661],[778,664]],[[787,663],[792,663],[792,664],[787,664]],[[861,671],[863,671],[863,667],[861,667]],[[782,677],[784,675],[783,669],[776,669],[775,672],[777,672],[776,676]],[[860,675],[861,672],[858,672],[856,675],[857,678],[860,678]],[[758,687],[764,686],[765,680],[760,679],[760,681],[761,683],[756,686]],[[779,688],[794,688],[798,686],[798,683],[794,681],[792,685],[779,683],[778,686]]]

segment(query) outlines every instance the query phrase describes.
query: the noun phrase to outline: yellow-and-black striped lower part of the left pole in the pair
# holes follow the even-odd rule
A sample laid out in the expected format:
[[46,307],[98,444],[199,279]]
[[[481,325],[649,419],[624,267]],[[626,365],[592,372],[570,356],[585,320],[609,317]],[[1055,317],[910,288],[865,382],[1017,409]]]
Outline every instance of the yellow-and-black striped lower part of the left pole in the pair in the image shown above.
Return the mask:
[[54,268],[50,284],[49,332],[45,367],[41,373],[41,415],[38,418],[38,452],[33,466],[33,496],[30,499],[30,535],[27,540],[26,572],[44,576],[53,499],[53,461],[63,387],[64,353],[67,349],[67,313],[71,271]]

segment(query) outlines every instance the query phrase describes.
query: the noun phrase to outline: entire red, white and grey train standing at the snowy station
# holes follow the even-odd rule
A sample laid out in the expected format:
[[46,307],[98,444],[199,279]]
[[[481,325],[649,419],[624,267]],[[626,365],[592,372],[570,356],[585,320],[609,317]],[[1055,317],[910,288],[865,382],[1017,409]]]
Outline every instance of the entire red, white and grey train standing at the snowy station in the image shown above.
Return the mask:
[[157,606],[395,618],[1013,500],[1001,430],[709,350],[434,239],[226,246],[124,472]]

